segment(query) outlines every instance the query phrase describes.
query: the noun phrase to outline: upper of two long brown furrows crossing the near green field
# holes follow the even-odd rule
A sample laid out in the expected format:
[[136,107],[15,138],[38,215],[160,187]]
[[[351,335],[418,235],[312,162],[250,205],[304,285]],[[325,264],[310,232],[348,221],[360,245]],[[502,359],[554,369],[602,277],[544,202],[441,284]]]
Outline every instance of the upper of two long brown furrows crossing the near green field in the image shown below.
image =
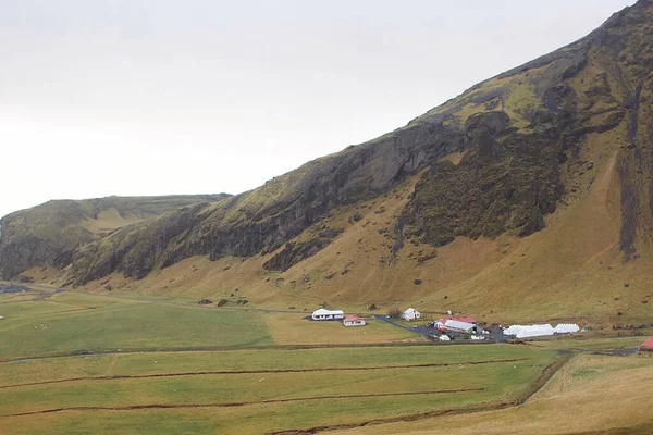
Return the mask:
[[38,385],[65,384],[69,382],[78,381],[121,381],[121,380],[141,380],[152,377],[178,377],[178,376],[205,376],[205,375],[238,375],[238,374],[274,374],[274,373],[310,373],[310,372],[356,372],[370,370],[399,370],[399,369],[428,369],[442,368],[452,365],[482,365],[502,362],[521,362],[528,361],[528,358],[513,358],[503,360],[488,361],[461,361],[461,362],[433,362],[426,364],[399,364],[399,365],[370,365],[370,366],[352,366],[352,368],[315,368],[315,369],[263,369],[263,370],[217,370],[217,371],[200,371],[200,372],[178,372],[178,373],[151,373],[151,374],[135,374],[135,375],[106,375],[106,376],[79,376],[69,377],[65,380],[29,382],[25,384],[1,385],[0,389],[4,388],[21,388]]

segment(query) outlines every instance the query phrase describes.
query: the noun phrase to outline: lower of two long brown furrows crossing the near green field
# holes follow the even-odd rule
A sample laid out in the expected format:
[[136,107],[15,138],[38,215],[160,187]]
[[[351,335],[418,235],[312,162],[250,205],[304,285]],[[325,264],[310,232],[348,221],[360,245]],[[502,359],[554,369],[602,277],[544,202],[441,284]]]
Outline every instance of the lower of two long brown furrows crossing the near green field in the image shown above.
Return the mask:
[[486,391],[486,388],[461,388],[461,389],[436,389],[430,391],[402,391],[402,393],[378,393],[378,394],[358,394],[358,395],[331,395],[331,396],[310,396],[310,397],[297,397],[289,399],[270,399],[260,401],[237,401],[237,402],[223,402],[223,403],[150,403],[150,405],[132,405],[125,407],[66,407],[66,408],[50,408],[38,411],[26,411],[15,412],[11,414],[0,414],[0,419],[10,417],[26,417],[37,414],[50,414],[65,411],[139,411],[147,409],[176,409],[176,408],[236,408],[255,405],[270,405],[270,403],[288,403],[297,401],[313,401],[313,400],[333,400],[333,399],[350,399],[350,398],[374,398],[374,397],[397,397],[397,396],[429,396],[429,395],[442,395],[442,394],[464,394],[464,393],[482,393]]

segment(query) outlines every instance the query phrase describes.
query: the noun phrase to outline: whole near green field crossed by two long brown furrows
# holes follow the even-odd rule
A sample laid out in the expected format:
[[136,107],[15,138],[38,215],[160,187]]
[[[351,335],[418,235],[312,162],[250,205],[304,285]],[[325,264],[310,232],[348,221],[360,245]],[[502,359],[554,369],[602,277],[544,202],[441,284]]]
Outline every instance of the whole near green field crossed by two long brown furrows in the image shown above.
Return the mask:
[[[358,422],[506,400],[554,357],[515,346],[397,346],[4,362],[0,426],[12,434],[108,425],[125,434],[230,434]],[[51,381],[60,382],[35,384]],[[63,410],[44,412],[52,409]],[[8,417],[25,412],[36,413]]]

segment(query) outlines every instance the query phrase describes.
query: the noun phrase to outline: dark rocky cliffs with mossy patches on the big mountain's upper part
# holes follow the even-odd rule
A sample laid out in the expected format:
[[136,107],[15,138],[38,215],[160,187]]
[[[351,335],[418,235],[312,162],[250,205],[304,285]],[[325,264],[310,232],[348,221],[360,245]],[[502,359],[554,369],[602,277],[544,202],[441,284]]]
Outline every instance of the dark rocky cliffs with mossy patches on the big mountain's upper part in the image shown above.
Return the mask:
[[[111,272],[141,278],[197,254],[272,252],[264,268],[287,270],[337,236],[305,233],[334,208],[386,195],[416,174],[422,175],[396,223],[391,254],[404,236],[435,247],[459,236],[527,236],[581,188],[574,179],[591,167],[583,160],[589,135],[621,130],[627,146],[615,141],[620,249],[630,260],[653,235],[652,41],[653,2],[640,0],[586,38],[483,82],[405,127],[249,192],[188,204],[95,240],[74,228],[64,246],[41,246],[30,232],[20,241],[3,235],[3,274],[48,259],[72,264],[70,284],[81,285]],[[3,231],[17,219],[3,222]]]

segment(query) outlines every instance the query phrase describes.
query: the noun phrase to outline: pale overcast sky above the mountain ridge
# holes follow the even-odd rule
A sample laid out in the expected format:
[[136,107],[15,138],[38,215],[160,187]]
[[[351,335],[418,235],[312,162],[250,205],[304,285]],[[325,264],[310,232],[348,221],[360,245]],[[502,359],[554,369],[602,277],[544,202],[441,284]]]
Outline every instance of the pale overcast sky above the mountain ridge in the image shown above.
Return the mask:
[[0,0],[0,216],[252,189],[632,3]]

